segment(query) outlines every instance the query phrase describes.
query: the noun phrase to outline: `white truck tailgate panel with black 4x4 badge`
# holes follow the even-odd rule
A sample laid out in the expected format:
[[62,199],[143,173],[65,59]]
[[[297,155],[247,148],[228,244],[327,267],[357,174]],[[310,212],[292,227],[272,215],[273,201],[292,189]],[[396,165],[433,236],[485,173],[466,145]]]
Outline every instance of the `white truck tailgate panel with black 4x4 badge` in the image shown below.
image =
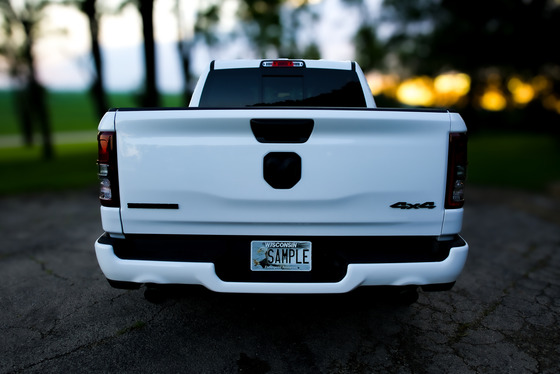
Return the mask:
[[[303,143],[262,143],[251,120],[312,120]],[[450,114],[321,109],[117,111],[124,233],[439,235]],[[297,155],[276,188],[269,154]],[[296,157],[297,157],[296,156]]]

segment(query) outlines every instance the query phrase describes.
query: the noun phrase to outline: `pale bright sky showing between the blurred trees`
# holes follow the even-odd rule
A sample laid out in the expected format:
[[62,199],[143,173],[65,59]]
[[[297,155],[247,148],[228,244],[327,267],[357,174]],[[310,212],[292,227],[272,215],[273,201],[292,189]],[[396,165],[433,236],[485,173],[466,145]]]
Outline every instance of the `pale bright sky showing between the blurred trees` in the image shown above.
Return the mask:
[[[318,0],[316,0],[318,1]],[[117,0],[100,0],[101,4],[114,7]],[[379,0],[370,0],[370,9],[378,9]],[[196,2],[197,3],[197,2]],[[179,92],[183,88],[182,73],[176,50],[178,37],[175,0],[156,0],[154,26],[158,86],[164,92]],[[182,22],[192,25],[194,11],[192,1],[182,2]],[[352,59],[350,43],[359,19],[359,10],[345,6],[340,0],[323,0],[313,5],[320,14],[310,35],[318,39],[323,58],[335,60]],[[226,16],[221,31],[236,27],[233,17],[235,1],[223,6]],[[100,43],[104,63],[105,85],[109,91],[134,91],[143,80],[142,34],[137,10],[126,7],[117,15],[104,15],[100,24]],[[51,90],[86,89],[93,75],[87,19],[71,7],[52,6],[44,22],[42,37],[37,41],[35,53],[38,59],[40,81]],[[188,36],[188,35],[187,35]],[[246,58],[255,56],[244,42],[227,43],[219,48],[197,48],[194,53],[193,70],[200,74],[208,63],[220,58]],[[180,77],[178,79],[178,77]],[[9,88],[7,77],[0,76],[0,88]]]

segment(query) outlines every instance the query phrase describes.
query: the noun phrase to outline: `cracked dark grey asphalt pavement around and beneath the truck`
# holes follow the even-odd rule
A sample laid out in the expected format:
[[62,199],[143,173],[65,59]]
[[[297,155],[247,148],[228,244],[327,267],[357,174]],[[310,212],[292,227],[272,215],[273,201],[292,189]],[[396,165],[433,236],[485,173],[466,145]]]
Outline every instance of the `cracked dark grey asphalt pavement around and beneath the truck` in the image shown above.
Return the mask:
[[109,287],[95,190],[0,199],[1,373],[558,373],[560,199],[471,189],[449,292],[222,295]]

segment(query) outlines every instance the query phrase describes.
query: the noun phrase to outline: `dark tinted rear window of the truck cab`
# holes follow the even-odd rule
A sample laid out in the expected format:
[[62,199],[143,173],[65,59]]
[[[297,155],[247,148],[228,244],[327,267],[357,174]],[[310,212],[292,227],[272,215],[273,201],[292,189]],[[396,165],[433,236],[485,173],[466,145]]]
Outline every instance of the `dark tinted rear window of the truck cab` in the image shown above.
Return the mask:
[[358,75],[308,68],[224,69],[209,73],[200,107],[366,107]]

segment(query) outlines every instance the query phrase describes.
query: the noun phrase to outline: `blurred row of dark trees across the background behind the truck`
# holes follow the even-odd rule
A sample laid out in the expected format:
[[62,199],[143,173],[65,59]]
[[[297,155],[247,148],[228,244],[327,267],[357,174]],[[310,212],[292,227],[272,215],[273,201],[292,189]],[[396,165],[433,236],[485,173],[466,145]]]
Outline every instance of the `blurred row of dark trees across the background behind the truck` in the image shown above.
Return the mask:
[[[329,0],[323,0],[329,1]],[[14,2],[16,3],[16,2]],[[0,54],[10,66],[16,84],[16,102],[25,143],[33,142],[33,133],[42,137],[43,155],[53,156],[51,124],[45,89],[37,79],[33,46],[41,35],[38,26],[49,0],[24,0],[14,8],[11,0],[0,0],[2,34]],[[61,2],[57,2],[61,4]],[[161,105],[157,87],[156,43],[154,40],[155,0],[123,0],[124,7],[133,5],[142,20],[145,78],[138,105]],[[192,25],[181,18],[185,0],[175,0],[178,17],[177,48],[185,82],[185,102],[189,98],[193,47],[197,43],[219,46],[242,34],[260,57],[320,58],[316,39],[302,46],[299,30],[302,19],[313,24],[318,15],[301,0],[297,6],[288,0],[238,0],[236,20],[239,27],[232,35],[218,34],[221,9],[225,0],[196,2]],[[498,70],[504,77],[546,75],[560,82],[560,54],[555,40],[560,35],[560,4],[555,0],[384,0],[380,11],[365,0],[343,0],[358,10],[358,20],[348,20],[356,27],[353,39],[355,59],[365,71],[395,69],[409,74],[435,76],[446,70],[458,70],[471,76],[474,95]],[[23,6],[19,6],[23,4]],[[95,74],[91,97],[98,116],[109,107],[103,77],[103,60],[99,43],[101,11],[96,0],[64,0],[75,6],[89,21],[91,55]],[[190,3],[192,4],[192,2]],[[380,40],[380,25],[391,25],[392,33]],[[310,25],[305,25],[309,30]],[[185,29],[192,30],[185,32]],[[336,33],[337,30],[332,30]],[[236,34],[237,33],[237,34]],[[187,37],[188,34],[188,37]],[[309,35],[307,35],[309,39]],[[560,95],[558,100],[560,101]],[[471,100],[472,103],[472,100]],[[471,110],[474,110],[471,108]]]

